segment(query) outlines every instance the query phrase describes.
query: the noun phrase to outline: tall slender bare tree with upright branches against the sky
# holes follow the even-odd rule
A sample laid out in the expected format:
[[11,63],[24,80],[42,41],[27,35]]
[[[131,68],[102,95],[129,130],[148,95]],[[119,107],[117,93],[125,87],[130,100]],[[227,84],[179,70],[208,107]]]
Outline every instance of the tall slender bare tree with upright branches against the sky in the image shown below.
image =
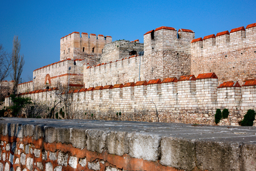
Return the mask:
[[14,80],[13,85],[13,94],[17,94],[18,89],[18,81],[20,79],[20,75],[22,74],[23,66],[24,66],[24,55],[20,55],[20,40],[18,39],[18,36],[13,37],[13,47],[12,47],[12,79]]

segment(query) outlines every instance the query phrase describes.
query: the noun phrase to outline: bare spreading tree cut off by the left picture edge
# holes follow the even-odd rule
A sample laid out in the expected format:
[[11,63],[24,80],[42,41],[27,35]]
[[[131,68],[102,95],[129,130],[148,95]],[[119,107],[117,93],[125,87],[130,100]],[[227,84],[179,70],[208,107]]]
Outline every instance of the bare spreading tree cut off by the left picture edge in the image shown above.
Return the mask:
[[10,66],[10,56],[4,50],[3,45],[0,44],[0,99],[3,99],[7,95],[11,86],[8,82],[3,82],[10,73]]

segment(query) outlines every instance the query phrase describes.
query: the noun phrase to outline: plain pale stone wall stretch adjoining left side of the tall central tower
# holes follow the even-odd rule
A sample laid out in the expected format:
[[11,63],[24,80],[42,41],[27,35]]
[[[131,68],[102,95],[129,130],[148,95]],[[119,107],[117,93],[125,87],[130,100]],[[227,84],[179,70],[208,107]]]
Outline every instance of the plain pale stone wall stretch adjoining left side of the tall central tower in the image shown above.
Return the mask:
[[[140,57],[133,55],[121,60],[109,63],[101,63],[96,66],[84,65],[83,82],[85,87],[105,86],[131,81],[139,81]],[[141,56],[140,77],[143,80],[142,71],[143,56]]]

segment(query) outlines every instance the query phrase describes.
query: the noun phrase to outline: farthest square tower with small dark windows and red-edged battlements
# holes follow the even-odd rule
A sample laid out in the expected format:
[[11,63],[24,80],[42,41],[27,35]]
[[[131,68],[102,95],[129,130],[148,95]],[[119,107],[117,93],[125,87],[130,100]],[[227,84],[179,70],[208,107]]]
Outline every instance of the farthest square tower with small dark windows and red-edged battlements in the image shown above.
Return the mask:
[[111,36],[73,32],[60,39],[60,60],[84,59],[87,62],[98,61],[105,44],[112,42]]

